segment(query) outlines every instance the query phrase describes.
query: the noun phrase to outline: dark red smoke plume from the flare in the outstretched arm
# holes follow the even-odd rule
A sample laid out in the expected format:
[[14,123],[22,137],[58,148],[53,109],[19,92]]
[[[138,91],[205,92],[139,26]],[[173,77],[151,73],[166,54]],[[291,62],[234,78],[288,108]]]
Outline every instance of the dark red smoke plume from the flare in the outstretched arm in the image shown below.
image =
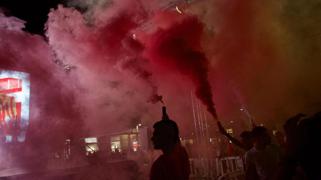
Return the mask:
[[203,29],[203,23],[196,16],[174,22],[166,29],[160,28],[150,35],[146,54],[162,66],[173,67],[173,70],[190,77],[196,88],[196,97],[218,120],[208,80],[209,61],[200,44]]

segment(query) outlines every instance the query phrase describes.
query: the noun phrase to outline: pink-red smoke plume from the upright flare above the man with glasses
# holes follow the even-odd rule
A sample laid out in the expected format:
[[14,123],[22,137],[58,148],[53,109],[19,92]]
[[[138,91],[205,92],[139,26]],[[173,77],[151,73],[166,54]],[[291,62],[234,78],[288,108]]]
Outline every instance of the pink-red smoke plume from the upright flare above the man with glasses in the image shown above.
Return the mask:
[[[140,79],[151,89],[148,102],[155,104],[162,101],[162,96],[157,94],[158,88],[152,82],[152,73],[143,67],[148,62],[143,57],[145,47],[134,40],[132,33],[138,26],[135,19],[146,16],[146,12],[141,10],[139,15],[133,10],[120,10],[95,24],[97,22],[85,21],[75,9],[58,5],[56,10],[52,9],[49,13],[46,36],[60,59],[81,68],[98,70],[101,75],[110,67],[115,67],[125,75],[129,73],[131,77]],[[88,23],[93,25],[86,26]],[[58,34],[67,38],[60,39]]]

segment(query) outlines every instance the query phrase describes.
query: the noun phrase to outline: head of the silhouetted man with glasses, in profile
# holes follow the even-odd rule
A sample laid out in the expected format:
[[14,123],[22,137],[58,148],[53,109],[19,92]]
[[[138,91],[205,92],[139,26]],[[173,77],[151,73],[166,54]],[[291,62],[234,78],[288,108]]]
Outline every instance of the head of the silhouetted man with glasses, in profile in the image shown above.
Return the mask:
[[153,125],[154,132],[151,140],[154,149],[163,151],[163,154],[174,150],[178,140],[178,126],[176,122],[166,119],[156,122]]

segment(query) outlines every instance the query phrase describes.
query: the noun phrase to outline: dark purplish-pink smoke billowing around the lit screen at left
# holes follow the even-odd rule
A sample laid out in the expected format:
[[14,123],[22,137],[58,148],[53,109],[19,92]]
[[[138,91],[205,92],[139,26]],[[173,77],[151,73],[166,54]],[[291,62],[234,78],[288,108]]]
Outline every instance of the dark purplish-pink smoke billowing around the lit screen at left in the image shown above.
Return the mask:
[[[0,15],[0,67],[28,72],[31,82],[29,126],[25,142],[12,144],[13,152],[21,157],[12,163],[18,167],[28,164],[28,168],[46,165],[48,152],[59,148],[60,139],[83,132],[81,106],[74,103],[76,92],[72,91],[78,88],[77,80],[54,63],[54,53],[43,37],[23,32],[22,20]],[[71,128],[74,130],[68,132]],[[42,160],[32,160],[35,158]]]

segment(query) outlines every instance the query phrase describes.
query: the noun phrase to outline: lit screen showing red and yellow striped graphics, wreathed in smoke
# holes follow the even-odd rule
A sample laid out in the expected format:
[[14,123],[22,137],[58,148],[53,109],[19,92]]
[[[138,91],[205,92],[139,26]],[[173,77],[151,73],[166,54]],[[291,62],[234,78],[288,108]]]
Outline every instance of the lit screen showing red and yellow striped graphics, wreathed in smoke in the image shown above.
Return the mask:
[[[29,124],[30,75],[0,69],[0,137],[23,142]],[[3,138],[1,138],[1,141]]]

